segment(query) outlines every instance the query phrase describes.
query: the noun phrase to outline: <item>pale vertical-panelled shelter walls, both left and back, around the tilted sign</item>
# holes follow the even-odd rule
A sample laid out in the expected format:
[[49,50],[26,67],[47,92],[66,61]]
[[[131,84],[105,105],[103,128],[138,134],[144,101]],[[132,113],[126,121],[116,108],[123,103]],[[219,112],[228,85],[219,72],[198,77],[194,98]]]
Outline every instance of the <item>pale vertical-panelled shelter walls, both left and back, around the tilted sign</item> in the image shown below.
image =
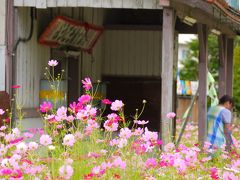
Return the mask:
[[[30,8],[18,8],[18,37],[26,37],[29,33],[29,11]],[[49,11],[50,15],[46,15],[46,11]],[[104,9],[53,8],[51,13],[49,9],[38,13],[31,41],[21,43],[17,51],[17,83],[22,86],[18,91],[23,108],[39,106],[39,82],[51,55],[50,48],[38,44],[38,31],[42,30],[41,24],[44,21],[46,24],[46,18],[51,20],[56,15],[65,15],[97,25],[102,25],[104,21]],[[79,77],[89,76],[93,81],[101,79],[102,75],[159,77],[161,31],[106,29],[93,49],[93,58],[87,53],[82,53],[79,59]]]

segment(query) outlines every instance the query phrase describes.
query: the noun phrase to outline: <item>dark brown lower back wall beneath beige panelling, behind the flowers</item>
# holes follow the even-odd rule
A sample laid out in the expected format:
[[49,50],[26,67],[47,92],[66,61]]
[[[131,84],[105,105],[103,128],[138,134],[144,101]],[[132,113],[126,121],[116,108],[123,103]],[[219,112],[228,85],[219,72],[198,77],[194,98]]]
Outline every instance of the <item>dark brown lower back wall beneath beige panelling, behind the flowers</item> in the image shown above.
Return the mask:
[[160,131],[161,117],[161,79],[151,77],[114,77],[105,76],[107,82],[107,98],[122,100],[124,112],[129,120],[133,120],[136,109],[142,108],[142,101],[147,104],[139,120],[148,120],[148,129]]

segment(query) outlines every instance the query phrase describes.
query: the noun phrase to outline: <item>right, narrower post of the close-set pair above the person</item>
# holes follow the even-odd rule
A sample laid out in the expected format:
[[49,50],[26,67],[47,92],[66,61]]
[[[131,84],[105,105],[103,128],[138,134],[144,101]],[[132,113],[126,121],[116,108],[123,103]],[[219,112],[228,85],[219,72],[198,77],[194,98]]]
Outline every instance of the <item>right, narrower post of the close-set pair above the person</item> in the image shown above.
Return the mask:
[[226,77],[226,94],[233,95],[233,43],[234,40],[227,40],[227,77]]

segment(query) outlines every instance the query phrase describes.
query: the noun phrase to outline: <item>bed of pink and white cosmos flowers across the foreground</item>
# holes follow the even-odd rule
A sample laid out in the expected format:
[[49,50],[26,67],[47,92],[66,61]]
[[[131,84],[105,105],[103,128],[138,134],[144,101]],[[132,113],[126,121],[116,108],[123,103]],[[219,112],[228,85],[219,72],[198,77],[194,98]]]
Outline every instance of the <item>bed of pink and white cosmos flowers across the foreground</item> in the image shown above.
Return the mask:
[[[57,62],[49,65],[54,68]],[[50,80],[60,80],[50,75]],[[162,151],[158,133],[145,127],[148,121],[140,120],[141,113],[135,114],[129,127],[121,100],[103,99],[103,108],[96,108],[91,80],[85,78],[82,83],[86,93],[68,108],[55,110],[54,103],[41,104],[44,129],[21,133],[7,124],[0,128],[1,178],[239,179],[239,154],[217,150],[209,156],[207,143],[201,151],[195,144],[196,126],[188,124],[182,144],[166,144]],[[103,116],[106,108],[112,113]],[[0,110],[0,115],[4,113]],[[173,117],[174,113],[168,114]]]

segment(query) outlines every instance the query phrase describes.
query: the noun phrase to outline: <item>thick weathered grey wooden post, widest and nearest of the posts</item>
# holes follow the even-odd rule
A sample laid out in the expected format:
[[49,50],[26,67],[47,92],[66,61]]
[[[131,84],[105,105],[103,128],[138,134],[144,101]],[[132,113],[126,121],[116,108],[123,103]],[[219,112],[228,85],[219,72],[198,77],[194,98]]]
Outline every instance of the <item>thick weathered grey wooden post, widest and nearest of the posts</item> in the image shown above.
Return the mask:
[[162,28],[162,92],[161,128],[163,145],[171,141],[172,120],[166,117],[173,111],[173,54],[174,54],[175,13],[171,8],[163,9]]

